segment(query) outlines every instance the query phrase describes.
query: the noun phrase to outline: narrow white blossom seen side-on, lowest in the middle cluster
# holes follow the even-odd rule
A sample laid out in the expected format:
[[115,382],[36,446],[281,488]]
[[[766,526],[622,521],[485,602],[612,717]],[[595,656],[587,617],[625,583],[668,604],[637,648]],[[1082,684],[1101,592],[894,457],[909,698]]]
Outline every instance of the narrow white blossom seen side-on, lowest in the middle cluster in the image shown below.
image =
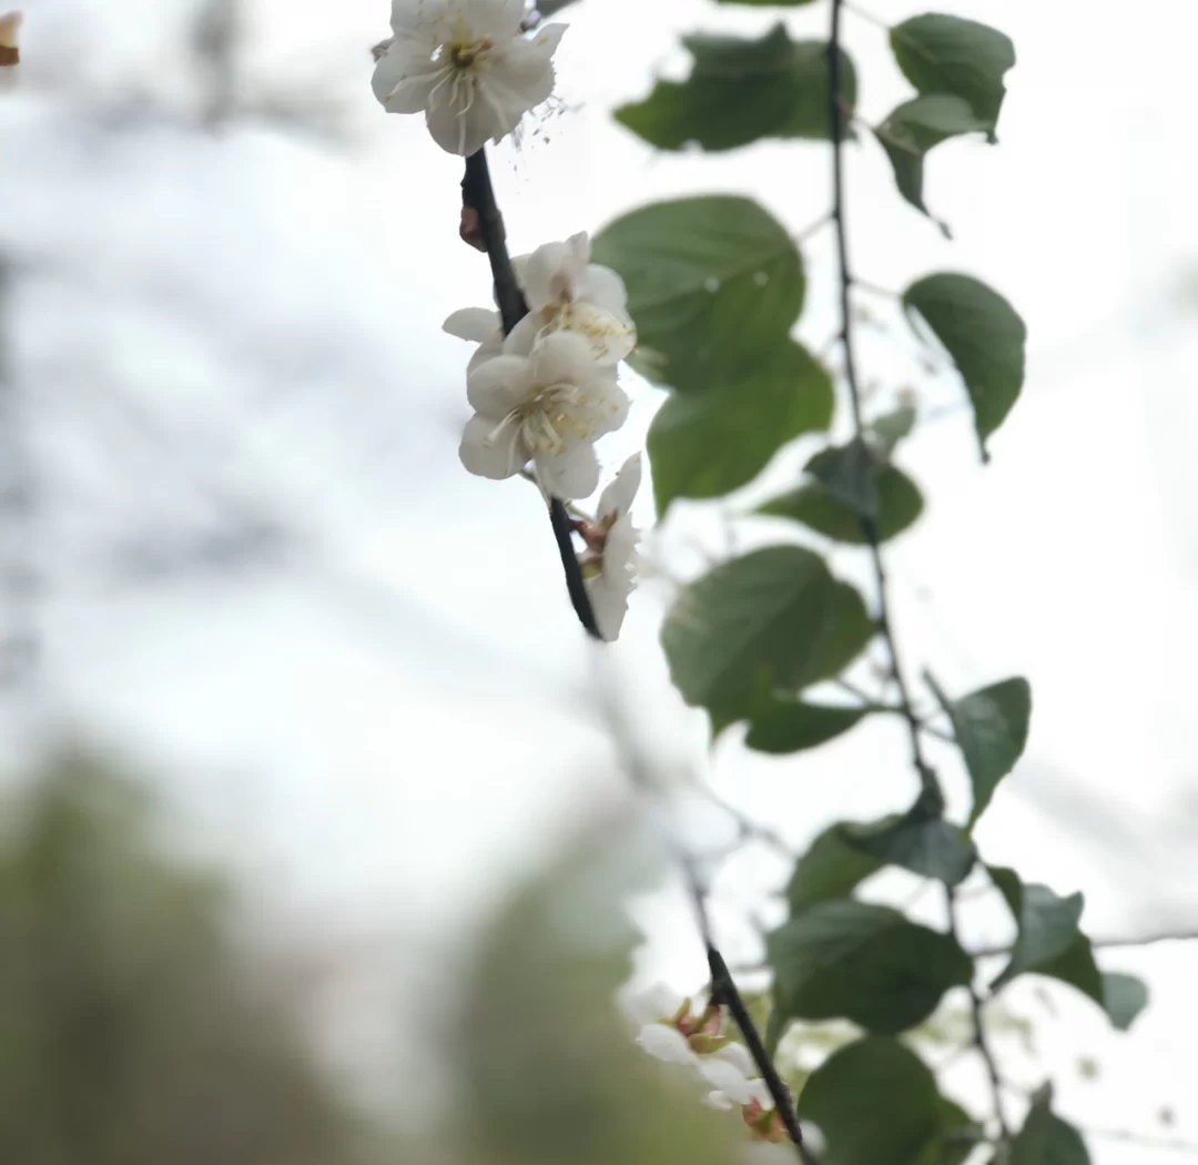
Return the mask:
[[634,453],[599,495],[593,523],[580,530],[587,543],[582,556],[582,581],[599,633],[609,642],[619,636],[628,612],[628,597],[636,588],[637,553],[641,533],[633,525],[633,499],[641,485],[641,454]]

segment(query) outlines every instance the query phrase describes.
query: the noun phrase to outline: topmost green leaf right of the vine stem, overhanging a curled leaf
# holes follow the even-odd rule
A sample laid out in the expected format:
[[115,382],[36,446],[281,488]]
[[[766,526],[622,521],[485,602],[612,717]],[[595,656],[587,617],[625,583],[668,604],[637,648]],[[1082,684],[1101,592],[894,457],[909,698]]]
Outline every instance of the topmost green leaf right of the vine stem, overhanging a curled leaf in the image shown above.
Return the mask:
[[993,140],[1006,95],[1003,77],[1015,65],[1010,37],[976,20],[930,13],[896,24],[890,48],[920,93],[963,98]]

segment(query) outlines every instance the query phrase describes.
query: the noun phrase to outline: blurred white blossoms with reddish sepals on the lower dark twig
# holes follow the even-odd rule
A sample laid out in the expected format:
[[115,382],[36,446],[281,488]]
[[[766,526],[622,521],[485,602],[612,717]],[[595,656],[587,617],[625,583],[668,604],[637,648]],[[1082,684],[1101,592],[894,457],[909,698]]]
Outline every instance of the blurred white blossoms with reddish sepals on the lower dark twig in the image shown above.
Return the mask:
[[692,1009],[667,988],[640,995],[624,994],[621,1004],[636,1025],[636,1043],[666,1063],[694,1069],[709,1089],[704,1103],[713,1109],[740,1107],[750,1135],[757,1141],[780,1142],[786,1137],[781,1117],[764,1080],[743,1044],[727,1034],[721,1008],[706,1003]]

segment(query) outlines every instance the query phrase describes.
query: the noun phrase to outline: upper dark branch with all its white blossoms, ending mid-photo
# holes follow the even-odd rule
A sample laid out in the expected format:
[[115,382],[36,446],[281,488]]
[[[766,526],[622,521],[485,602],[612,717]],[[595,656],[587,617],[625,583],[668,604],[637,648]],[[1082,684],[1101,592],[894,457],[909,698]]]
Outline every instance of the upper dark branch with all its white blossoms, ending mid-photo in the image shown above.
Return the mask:
[[[512,259],[484,150],[510,134],[553,90],[562,24],[528,31],[524,0],[395,0],[392,37],[374,49],[375,96],[389,113],[423,113],[443,150],[466,159],[461,235],[485,250],[498,312],[467,308],[446,331],[478,348],[467,366],[474,415],[461,461],[479,477],[526,472],[549,506],[579,621],[588,634],[619,634],[633,590],[637,532],[628,518],[640,482],[629,459],[594,519],[565,502],[599,485],[594,443],[618,429],[628,397],[618,364],[636,344],[619,277],[589,261],[585,234]],[[574,537],[581,535],[580,556]]]

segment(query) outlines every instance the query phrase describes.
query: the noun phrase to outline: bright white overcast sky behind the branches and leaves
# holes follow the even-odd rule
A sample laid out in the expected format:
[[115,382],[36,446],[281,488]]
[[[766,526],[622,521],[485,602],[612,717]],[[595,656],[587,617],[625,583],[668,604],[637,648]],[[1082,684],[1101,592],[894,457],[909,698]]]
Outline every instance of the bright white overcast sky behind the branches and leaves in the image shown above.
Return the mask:
[[[903,447],[928,506],[891,554],[897,626],[912,666],[954,690],[1031,681],[1031,740],[980,831],[987,858],[1063,893],[1083,887],[1100,935],[1196,926],[1196,18],[1184,0],[1120,19],[1081,0],[951,7],[1015,40],[1000,147],[933,156],[928,200],[951,245],[897,198],[871,143],[851,151],[854,261],[889,288],[928,270],[979,274],[1024,315],[1029,370],[988,467],[964,411]],[[875,8],[889,20],[920,11]],[[158,473],[173,499],[181,481],[201,491],[216,479],[298,525],[303,545],[283,572],[236,582],[117,587],[71,572],[38,615],[41,687],[10,719],[73,725],[162,768],[195,844],[304,918],[438,932],[447,913],[460,922],[492,900],[549,822],[622,787],[536,495],[458,463],[467,350],[440,325],[489,296],[485,261],[456,240],[460,164],[370,95],[383,0],[255,8],[250,87],[344,102],[335,149],[254,123],[205,138],[153,116],[117,131],[113,98],[131,87],[190,107],[183,14],[164,0],[35,0],[24,87],[0,101],[0,245],[28,270],[10,326],[54,469],[54,541],[40,553],[61,567],[84,526],[119,527],[131,506],[153,513]],[[757,31],[776,17],[702,0],[582,0],[563,13],[561,108],[497,152],[513,248],[697,192],[749,193],[797,231],[816,221],[827,147],[661,157],[609,116],[684,66],[679,32]],[[824,7],[787,19],[815,32]],[[902,80],[883,32],[860,20],[848,32],[876,121]],[[806,253],[800,334],[813,348],[833,330],[829,242],[817,235]],[[890,331],[861,343],[883,391],[913,368],[890,310],[878,302]],[[630,384],[634,416],[605,443],[610,466],[659,399]],[[948,379],[927,393],[931,408],[961,397]],[[122,408],[158,427],[137,467],[80,440],[89,410]],[[781,454],[767,482],[792,479],[809,452]],[[736,529],[742,547],[772,536]],[[695,544],[718,554],[722,538],[709,507],[682,505],[654,547],[686,575]],[[833,562],[865,584],[858,551]],[[702,759],[702,725],[665,677],[667,599],[661,581],[637,592],[615,654],[654,754],[677,768]],[[712,779],[801,843],[835,815],[910,796],[900,741],[897,725],[867,724],[799,759],[732,742]],[[949,754],[942,765],[960,795]],[[721,889],[751,898],[778,873],[749,861]],[[646,917],[654,967],[694,985],[686,916],[665,901]],[[1186,1107],[1178,1033],[1198,1018],[1186,1001],[1198,956],[1154,949],[1106,965],[1148,972],[1154,1007],[1130,1039],[1069,1012],[1061,1048],[1101,1051],[1119,1081],[1065,1094],[1090,1123],[1146,1128],[1161,1104]],[[1111,1095],[1126,1103],[1118,1119],[1103,1111]],[[1103,1145],[1099,1160],[1132,1153]]]

